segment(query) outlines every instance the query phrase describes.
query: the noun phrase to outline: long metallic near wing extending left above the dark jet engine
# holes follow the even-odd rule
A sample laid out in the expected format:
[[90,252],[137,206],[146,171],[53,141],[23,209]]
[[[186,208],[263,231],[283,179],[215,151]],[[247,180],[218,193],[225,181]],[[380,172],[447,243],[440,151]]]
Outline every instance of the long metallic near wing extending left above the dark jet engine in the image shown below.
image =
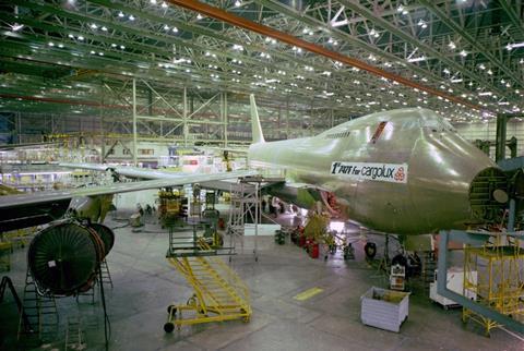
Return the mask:
[[183,184],[201,183],[209,181],[218,181],[230,178],[240,178],[248,175],[257,175],[255,171],[236,171],[236,172],[222,172],[214,174],[180,174],[171,173],[170,177],[159,174],[156,179],[138,181],[138,182],[124,182],[124,183],[114,183],[105,186],[93,186],[93,187],[80,187],[72,189],[67,191],[51,191],[51,192],[40,192],[32,194],[20,194],[20,195],[7,195],[0,196],[0,209],[10,208],[10,207],[20,207],[25,205],[36,205],[36,204],[47,204],[59,201],[64,201],[79,196],[96,196],[96,195],[107,195],[116,193],[126,193],[126,192],[135,192],[140,190],[147,189],[158,189],[165,186],[176,186]]

